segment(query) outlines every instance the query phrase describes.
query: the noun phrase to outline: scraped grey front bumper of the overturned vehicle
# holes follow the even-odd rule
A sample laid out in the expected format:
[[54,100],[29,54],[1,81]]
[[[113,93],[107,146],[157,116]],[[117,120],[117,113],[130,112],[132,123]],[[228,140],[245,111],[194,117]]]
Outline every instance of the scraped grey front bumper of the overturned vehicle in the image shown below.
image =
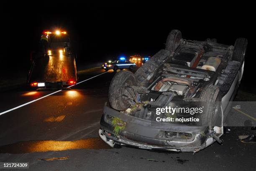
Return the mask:
[[[114,135],[111,118],[126,122],[125,129]],[[210,137],[209,127],[186,126],[170,123],[152,125],[151,121],[125,115],[104,106],[100,120],[99,135],[111,147],[114,144],[135,146],[144,149],[161,149],[180,152],[197,152],[216,140]],[[189,136],[166,136],[172,133]]]

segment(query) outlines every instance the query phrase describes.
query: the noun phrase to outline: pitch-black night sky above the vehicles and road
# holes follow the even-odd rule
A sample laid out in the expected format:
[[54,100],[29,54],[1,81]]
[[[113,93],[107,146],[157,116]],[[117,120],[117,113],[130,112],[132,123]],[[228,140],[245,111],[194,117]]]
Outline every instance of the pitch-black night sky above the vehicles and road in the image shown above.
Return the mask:
[[[192,6],[193,5],[193,6]],[[217,38],[234,45],[236,38],[248,39],[245,75],[254,67],[251,54],[253,10],[248,4],[174,3],[51,3],[5,4],[4,58],[11,67],[28,70],[29,54],[38,46],[43,30],[67,30],[78,54],[77,64],[95,63],[120,55],[154,55],[164,48],[168,33],[181,30],[189,40]],[[3,29],[3,28],[2,28]],[[255,67],[254,67],[255,68]],[[250,74],[251,75],[251,74]],[[244,80],[248,83],[248,77]]]

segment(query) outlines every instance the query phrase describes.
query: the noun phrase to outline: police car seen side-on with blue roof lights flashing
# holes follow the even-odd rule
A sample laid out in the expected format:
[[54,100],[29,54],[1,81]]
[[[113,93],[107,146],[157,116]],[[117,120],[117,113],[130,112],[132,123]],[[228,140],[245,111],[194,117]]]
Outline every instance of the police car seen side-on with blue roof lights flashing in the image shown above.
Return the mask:
[[131,63],[129,60],[126,60],[124,57],[119,58],[118,60],[113,60],[111,62],[105,63],[104,64],[104,69],[111,70],[113,69],[114,71],[120,69],[129,69],[133,70],[133,68],[136,67],[135,63]]

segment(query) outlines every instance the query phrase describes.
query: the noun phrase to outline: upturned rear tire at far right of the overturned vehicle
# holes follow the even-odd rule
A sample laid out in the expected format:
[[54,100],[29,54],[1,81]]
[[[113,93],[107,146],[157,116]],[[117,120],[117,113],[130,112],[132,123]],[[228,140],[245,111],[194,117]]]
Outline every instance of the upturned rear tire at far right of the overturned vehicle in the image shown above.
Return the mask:
[[234,51],[232,54],[232,60],[236,60],[238,62],[243,63],[247,44],[248,44],[248,40],[246,38],[236,39],[236,43],[234,45]]

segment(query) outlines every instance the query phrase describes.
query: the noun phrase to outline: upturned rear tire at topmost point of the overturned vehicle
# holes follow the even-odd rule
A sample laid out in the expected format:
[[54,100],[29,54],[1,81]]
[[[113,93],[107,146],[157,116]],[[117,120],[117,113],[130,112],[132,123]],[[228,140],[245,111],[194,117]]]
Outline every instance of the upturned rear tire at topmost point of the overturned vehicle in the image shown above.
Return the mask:
[[165,49],[173,53],[182,42],[182,33],[179,30],[172,30],[166,40]]

